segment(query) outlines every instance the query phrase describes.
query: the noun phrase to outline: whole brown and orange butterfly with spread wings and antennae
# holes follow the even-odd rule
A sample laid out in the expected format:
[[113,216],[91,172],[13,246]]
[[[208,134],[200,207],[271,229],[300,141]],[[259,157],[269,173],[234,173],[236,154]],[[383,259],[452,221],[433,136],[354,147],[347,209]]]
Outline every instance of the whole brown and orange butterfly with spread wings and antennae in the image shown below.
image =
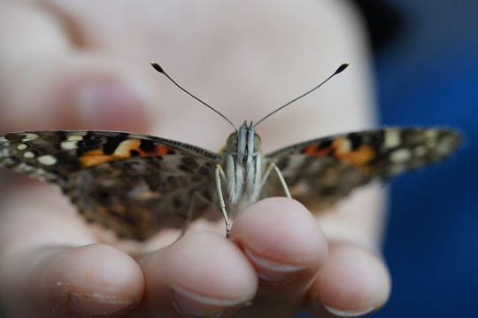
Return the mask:
[[198,218],[223,218],[228,234],[235,213],[260,198],[326,208],[358,186],[444,159],[461,143],[448,128],[379,128],[263,154],[257,124],[244,121],[220,152],[126,132],[10,133],[0,136],[0,166],[57,184],[87,221],[144,240]]

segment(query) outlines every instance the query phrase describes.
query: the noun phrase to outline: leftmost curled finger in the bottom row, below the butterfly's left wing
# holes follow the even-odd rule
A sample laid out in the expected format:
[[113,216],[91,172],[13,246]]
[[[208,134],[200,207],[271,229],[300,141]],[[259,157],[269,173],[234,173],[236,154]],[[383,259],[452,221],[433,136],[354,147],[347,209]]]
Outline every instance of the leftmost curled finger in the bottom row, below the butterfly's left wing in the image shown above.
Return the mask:
[[135,260],[106,244],[36,246],[2,265],[0,298],[12,317],[124,317],[143,296]]

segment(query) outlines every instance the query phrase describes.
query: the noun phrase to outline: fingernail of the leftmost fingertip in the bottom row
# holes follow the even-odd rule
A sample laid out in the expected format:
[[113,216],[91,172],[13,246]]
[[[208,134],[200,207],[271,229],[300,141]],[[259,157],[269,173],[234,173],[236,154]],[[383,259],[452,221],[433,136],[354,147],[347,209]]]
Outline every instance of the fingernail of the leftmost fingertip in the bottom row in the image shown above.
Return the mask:
[[133,305],[133,300],[119,299],[114,295],[93,292],[82,294],[76,291],[68,293],[74,311],[94,317],[105,317],[126,311]]

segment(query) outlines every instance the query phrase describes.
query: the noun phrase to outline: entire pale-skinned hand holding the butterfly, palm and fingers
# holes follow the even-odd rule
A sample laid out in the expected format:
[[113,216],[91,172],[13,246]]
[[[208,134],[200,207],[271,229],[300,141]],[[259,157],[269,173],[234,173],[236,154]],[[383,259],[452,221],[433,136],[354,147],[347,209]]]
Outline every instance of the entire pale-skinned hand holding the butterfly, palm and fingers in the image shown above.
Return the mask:
[[[116,129],[220,149],[227,122],[150,69],[153,58],[238,124],[351,62],[258,126],[266,152],[374,123],[366,36],[342,1],[3,0],[0,43],[2,132]],[[50,185],[0,173],[9,317],[358,316],[389,297],[378,186],[319,217],[264,199],[235,218],[230,240],[200,221],[174,244],[171,231],[134,244],[86,225]]]

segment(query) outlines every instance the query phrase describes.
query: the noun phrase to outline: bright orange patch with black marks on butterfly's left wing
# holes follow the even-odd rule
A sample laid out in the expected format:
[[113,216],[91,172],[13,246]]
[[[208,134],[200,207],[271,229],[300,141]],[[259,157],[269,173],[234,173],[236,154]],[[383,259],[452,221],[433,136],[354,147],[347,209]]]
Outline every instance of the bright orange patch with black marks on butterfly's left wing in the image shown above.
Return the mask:
[[141,149],[142,140],[140,139],[127,139],[122,141],[112,154],[105,154],[102,149],[95,149],[85,152],[79,159],[81,167],[92,167],[99,165],[106,161],[126,159],[131,157],[150,157],[150,156],[163,156],[166,154],[172,154],[173,149],[161,144],[155,145],[152,151],[144,151]]

